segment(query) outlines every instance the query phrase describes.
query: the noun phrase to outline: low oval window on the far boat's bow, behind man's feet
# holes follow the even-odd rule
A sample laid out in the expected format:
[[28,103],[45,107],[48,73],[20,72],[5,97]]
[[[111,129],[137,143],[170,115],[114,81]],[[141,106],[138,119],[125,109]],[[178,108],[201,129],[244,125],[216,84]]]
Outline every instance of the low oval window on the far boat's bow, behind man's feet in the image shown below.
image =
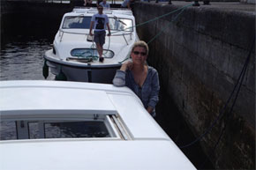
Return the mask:
[[[78,58],[98,58],[99,54],[96,48],[75,48],[71,51],[72,56],[77,56]],[[103,49],[102,53],[104,58],[112,58],[114,52],[108,49]]]

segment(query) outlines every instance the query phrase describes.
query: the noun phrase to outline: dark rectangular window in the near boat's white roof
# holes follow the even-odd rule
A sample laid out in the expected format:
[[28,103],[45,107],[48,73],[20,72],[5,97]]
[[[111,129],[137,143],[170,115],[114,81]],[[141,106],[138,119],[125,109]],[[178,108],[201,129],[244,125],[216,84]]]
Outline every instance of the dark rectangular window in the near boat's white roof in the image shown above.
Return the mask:
[[[113,118],[115,117],[115,118]],[[56,119],[56,118],[55,118]],[[86,118],[63,120],[16,120],[0,122],[0,140],[39,138],[121,138],[120,124],[115,115],[90,115]],[[120,136],[120,134],[122,134]]]

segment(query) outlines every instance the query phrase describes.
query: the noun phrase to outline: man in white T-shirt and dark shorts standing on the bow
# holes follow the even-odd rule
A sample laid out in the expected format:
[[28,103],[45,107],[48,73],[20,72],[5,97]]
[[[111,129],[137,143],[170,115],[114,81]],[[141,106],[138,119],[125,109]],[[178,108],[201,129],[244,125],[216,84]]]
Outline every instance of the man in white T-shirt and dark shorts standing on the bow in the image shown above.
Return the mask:
[[109,18],[107,15],[103,14],[102,5],[99,5],[97,9],[98,13],[94,14],[91,19],[90,35],[93,36],[92,29],[94,27],[94,42],[96,43],[96,48],[100,56],[99,61],[103,62],[104,58],[102,57],[102,53],[103,45],[105,43],[106,26],[109,30],[108,36],[110,36],[111,33],[109,28]]

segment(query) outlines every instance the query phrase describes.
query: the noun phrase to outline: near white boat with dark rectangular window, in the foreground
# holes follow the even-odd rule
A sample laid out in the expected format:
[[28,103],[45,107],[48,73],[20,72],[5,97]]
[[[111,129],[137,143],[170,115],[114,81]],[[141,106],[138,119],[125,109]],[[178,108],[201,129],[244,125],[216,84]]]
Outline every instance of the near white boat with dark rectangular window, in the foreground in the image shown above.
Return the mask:
[[196,169],[127,87],[0,82],[1,170]]

